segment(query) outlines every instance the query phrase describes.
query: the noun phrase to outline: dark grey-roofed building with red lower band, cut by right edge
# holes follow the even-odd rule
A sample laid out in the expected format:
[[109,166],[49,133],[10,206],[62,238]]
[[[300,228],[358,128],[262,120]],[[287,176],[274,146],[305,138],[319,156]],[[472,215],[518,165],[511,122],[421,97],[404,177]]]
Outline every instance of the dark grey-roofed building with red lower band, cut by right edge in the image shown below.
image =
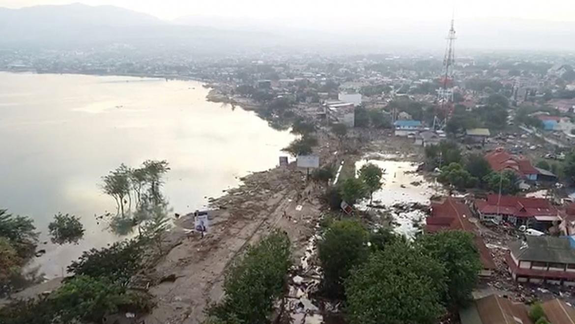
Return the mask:
[[509,243],[509,273],[520,283],[575,285],[575,244],[569,237],[526,236]]

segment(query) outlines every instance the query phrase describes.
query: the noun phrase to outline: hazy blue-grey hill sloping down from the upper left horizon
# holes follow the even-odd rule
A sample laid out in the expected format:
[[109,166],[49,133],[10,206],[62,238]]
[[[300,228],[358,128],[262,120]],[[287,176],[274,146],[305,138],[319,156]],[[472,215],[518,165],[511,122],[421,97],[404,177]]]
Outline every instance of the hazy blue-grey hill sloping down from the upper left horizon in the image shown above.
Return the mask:
[[272,46],[279,43],[277,38],[263,32],[178,25],[115,6],[0,7],[0,47],[76,49],[122,43],[148,51],[208,54]]

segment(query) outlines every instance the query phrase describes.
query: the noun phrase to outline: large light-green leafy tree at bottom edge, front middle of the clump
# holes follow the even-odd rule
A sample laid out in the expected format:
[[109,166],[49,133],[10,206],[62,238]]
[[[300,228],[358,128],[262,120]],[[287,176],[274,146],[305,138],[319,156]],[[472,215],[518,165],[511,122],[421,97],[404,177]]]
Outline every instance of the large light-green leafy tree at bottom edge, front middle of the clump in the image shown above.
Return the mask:
[[405,242],[396,242],[351,272],[346,280],[351,324],[431,324],[444,313],[440,262]]

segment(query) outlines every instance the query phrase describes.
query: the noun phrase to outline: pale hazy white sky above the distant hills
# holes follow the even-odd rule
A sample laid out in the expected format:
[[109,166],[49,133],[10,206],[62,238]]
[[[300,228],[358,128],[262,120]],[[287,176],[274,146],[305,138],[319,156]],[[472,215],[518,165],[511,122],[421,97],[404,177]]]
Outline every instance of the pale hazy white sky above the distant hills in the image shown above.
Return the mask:
[[[573,0],[0,0],[0,6],[23,7],[81,2],[88,5],[116,5],[173,19],[181,16],[225,16],[282,20],[297,18],[310,23],[321,17],[333,24],[410,18],[446,20],[455,7],[457,18],[513,17],[524,19],[575,21]],[[312,25],[312,24],[310,24]]]

